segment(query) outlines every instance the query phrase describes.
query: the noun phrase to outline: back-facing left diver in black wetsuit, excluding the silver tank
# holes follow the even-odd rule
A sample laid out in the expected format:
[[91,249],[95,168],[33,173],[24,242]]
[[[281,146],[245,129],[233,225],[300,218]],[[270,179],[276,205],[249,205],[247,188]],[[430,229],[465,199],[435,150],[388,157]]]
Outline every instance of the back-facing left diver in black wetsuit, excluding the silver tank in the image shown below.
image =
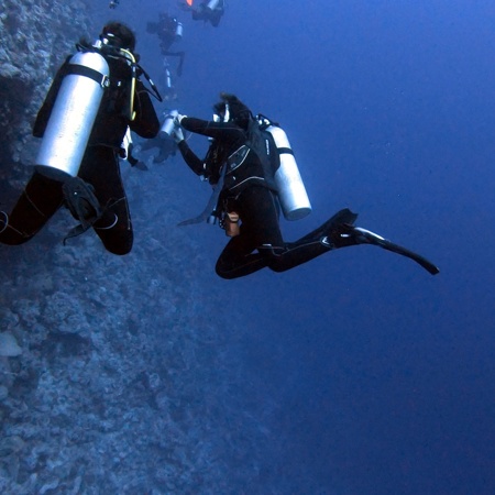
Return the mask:
[[[122,141],[128,128],[142,138],[154,138],[160,122],[143,82],[133,79],[138,56],[133,55],[135,36],[132,31],[124,24],[109,23],[98,43],[101,46],[78,45],[79,53],[97,52],[103,56],[110,75],[77,176],[62,172],[63,175],[51,176],[36,167],[11,215],[0,211],[0,242],[3,244],[29,241],[61,206],[66,206],[80,222],[67,238],[92,227],[109,252],[127,254],[131,251],[133,231],[119,167]],[[37,113],[33,129],[36,138],[44,136],[52,113],[55,114],[52,110],[63,80],[73,74],[68,61],[55,76]],[[86,97],[86,94],[81,96],[85,100]],[[57,118],[55,114],[54,119]]]

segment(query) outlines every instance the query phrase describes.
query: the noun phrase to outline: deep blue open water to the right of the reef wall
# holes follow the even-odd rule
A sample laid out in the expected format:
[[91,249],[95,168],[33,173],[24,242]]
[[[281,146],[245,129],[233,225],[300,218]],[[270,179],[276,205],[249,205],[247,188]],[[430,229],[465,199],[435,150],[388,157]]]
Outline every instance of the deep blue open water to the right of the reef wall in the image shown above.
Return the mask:
[[[191,228],[205,296],[224,292],[245,330],[231,351],[249,381],[235,386],[277,405],[268,426],[285,449],[260,476],[307,494],[495,493],[493,2],[230,0],[218,29],[175,1],[98,2],[101,22],[136,30],[157,82],[145,26],[166,8],[185,24],[174,106],[209,118],[234,92],[287,132],[314,206],[283,223],[287,240],[349,207],[441,271],[358,246],[224,282],[223,233]],[[177,160],[169,174],[184,218],[199,212],[208,186]]]

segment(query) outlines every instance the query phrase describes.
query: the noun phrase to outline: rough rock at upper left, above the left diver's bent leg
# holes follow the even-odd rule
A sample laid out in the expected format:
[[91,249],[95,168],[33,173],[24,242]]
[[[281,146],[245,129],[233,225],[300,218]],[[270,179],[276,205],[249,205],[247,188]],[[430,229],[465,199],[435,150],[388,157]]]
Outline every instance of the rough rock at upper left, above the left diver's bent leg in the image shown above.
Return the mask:
[[33,160],[32,123],[55,70],[92,30],[87,13],[80,0],[0,3],[0,179]]

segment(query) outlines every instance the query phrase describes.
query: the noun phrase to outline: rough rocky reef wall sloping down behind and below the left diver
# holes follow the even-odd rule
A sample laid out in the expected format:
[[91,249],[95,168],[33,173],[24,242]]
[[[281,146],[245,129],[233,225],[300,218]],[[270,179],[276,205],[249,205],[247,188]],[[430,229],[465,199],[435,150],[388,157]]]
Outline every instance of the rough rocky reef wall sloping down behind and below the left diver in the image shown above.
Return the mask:
[[[0,4],[0,185],[16,194],[50,78],[95,32],[85,15],[77,0]],[[92,232],[63,246],[65,210],[30,243],[0,245],[0,332],[22,351],[0,356],[0,493],[289,493],[262,461],[278,451],[263,425],[276,405],[240,389],[239,308],[176,227],[190,206],[165,167],[122,168],[130,255]]]

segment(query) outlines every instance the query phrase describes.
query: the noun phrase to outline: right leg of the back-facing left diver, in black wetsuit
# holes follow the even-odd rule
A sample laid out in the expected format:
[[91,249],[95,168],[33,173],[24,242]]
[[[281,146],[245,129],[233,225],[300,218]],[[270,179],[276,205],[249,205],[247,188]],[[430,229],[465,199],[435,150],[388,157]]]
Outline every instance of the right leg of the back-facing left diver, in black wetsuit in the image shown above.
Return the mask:
[[88,148],[79,177],[95,187],[103,210],[94,224],[95,232],[110,253],[128,254],[133,244],[133,231],[117,153],[107,146]]

